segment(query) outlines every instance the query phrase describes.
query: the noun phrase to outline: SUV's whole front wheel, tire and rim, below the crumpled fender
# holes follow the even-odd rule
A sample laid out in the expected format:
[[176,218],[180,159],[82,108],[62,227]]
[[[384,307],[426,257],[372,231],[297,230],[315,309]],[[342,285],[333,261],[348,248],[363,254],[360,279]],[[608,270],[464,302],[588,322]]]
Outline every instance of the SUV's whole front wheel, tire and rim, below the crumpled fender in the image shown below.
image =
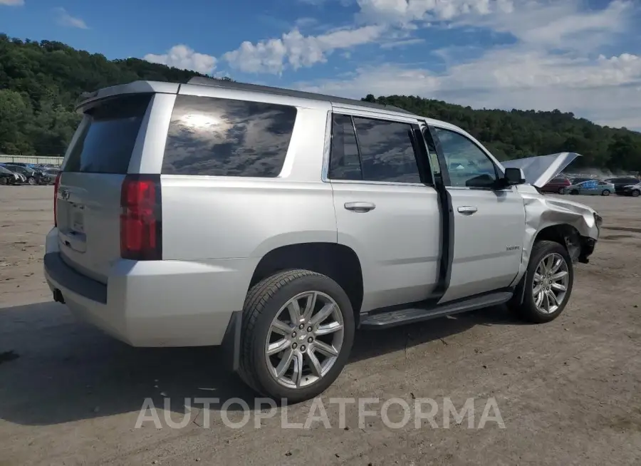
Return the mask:
[[[568,304],[573,282],[574,269],[567,249],[553,241],[536,242],[509,307],[528,322],[553,321]],[[519,304],[521,291],[523,302]]]

